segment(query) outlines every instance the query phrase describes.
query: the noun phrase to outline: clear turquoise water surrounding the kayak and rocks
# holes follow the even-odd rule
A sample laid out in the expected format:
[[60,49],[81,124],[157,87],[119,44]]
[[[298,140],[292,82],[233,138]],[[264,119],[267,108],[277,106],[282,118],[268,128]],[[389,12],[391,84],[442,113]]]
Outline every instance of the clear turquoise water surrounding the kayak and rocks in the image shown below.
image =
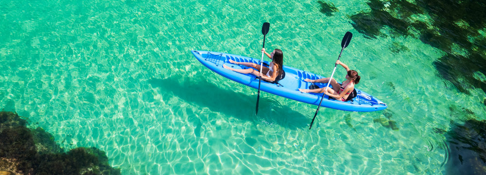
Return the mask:
[[[445,53],[417,38],[357,32],[349,16],[369,11],[365,2],[332,3],[339,11],[326,16],[313,0],[2,0],[0,108],[65,149],[100,148],[124,175],[442,174],[436,130],[486,119],[484,92],[441,78],[433,62]],[[255,115],[255,89],[191,55],[260,57],[267,21],[267,49],[325,76],[352,32],[342,62],[388,109],[321,108],[309,130],[316,106],[263,93]]]

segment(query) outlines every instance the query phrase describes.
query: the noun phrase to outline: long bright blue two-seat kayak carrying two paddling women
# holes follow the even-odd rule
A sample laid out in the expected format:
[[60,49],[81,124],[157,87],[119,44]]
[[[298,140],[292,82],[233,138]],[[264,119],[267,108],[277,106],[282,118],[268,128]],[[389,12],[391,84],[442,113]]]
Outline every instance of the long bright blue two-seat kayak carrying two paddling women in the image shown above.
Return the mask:
[[[199,62],[201,62],[212,71],[218,73],[219,75],[250,86],[252,88],[258,89],[259,80],[254,75],[241,74],[235,71],[225,69],[223,68],[223,64],[226,64],[227,66],[233,67],[235,69],[244,69],[249,67],[231,64],[229,63],[228,59],[234,60],[236,62],[250,62],[260,64],[259,59],[213,51],[192,50],[192,54],[197,58],[197,60],[199,60]],[[263,62],[269,64],[266,61]],[[260,90],[293,100],[301,101],[304,103],[319,105],[319,102],[323,95],[322,93],[301,93],[298,89],[309,89],[309,86],[312,83],[304,81],[305,79],[317,80],[324,77],[285,65],[283,66],[283,70],[285,72],[285,77],[282,80],[278,81],[279,84],[261,81]],[[314,84],[319,87],[326,87],[327,85],[327,83]],[[336,110],[360,112],[380,111],[386,109],[386,104],[379,99],[358,89],[356,89],[356,92],[357,96],[349,101],[335,100],[334,98],[329,98],[328,95],[325,95],[321,106]]]

